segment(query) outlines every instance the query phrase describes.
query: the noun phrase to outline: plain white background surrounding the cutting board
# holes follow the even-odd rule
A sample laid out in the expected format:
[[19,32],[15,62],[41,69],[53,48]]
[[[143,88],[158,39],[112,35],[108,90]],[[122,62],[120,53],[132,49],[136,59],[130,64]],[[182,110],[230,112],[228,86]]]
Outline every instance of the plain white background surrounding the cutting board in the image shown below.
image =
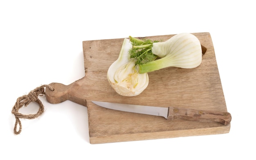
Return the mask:
[[[254,159],[255,15],[252,0],[0,1],[0,159]],[[229,133],[90,144],[87,108],[43,97],[45,113],[21,119],[21,134],[13,134],[18,97],[83,78],[82,41],[182,32],[211,34]]]

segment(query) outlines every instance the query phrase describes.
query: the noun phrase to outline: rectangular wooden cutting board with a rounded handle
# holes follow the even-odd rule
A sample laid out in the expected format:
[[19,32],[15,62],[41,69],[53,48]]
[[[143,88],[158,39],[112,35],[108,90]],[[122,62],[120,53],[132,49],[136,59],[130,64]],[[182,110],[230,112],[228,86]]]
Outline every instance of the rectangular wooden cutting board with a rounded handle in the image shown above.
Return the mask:
[[[105,109],[92,100],[159,107],[182,107],[227,111],[210,33],[193,33],[207,50],[202,64],[195,69],[169,67],[148,73],[148,87],[139,96],[118,95],[107,80],[108,67],[117,60],[123,38],[83,42],[85,76],[69,85],[51,83],[46,98],[56,104],[65,100],[88,107],[91,144],[175,138],[229,133],[230,124],[166,120]],[[168,40],[174,35],[148,36],[146,39]]]

